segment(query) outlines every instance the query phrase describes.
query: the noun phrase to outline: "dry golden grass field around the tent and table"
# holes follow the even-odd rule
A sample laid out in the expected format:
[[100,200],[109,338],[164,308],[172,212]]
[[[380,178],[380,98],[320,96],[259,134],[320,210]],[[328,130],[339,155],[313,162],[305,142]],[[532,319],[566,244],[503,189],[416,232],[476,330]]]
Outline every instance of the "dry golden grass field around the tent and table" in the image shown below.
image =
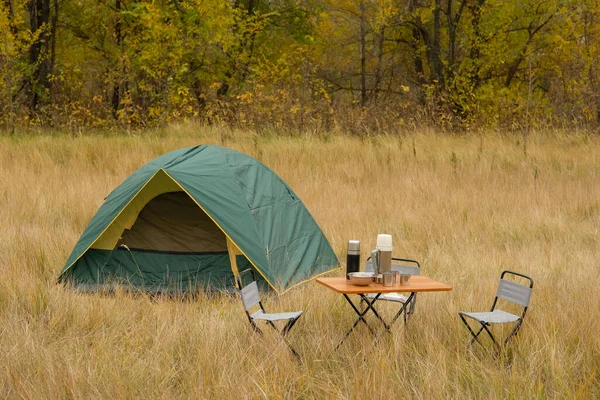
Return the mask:
[[[297,363],[251,331],[237,297],[56,285],[123,179],[166,151],[223,142],[286,180],[342,262],[348,239],[364,254],[391,233],[395,255],[453,290],[420,295],[393,335],[359,327],[338,351],[354,319],[341,296],[310,282],[267,297],[267,310],[305,310],[289,336]],[[498,134],[4,137],[0,180],[2,398],[600,397],[600,138],[537,133],[525,152],[522,137]],[[518,339],[499,357],[467,350],[457,312],[488,308],[504,269],[535,280]]]

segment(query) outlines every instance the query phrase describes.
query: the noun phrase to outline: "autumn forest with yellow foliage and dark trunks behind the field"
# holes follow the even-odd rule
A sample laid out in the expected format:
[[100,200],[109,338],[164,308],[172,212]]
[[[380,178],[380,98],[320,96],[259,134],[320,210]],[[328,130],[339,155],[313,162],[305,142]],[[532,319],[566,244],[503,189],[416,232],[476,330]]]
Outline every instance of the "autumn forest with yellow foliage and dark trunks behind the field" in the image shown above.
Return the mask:
[[0,129],[600,126],[597,0],[1,0]]

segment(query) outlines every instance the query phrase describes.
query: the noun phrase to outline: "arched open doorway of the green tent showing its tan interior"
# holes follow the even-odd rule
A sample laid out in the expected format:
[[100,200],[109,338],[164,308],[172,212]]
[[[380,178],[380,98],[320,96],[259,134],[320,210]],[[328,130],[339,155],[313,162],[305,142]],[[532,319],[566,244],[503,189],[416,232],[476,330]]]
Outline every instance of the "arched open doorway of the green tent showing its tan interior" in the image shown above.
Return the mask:
[[110,252],[90,251],[105,260],[94,279],[99,284],[127,283],[150,290],[233,289],[238,266],[251,267],[183,191],[150,200]]

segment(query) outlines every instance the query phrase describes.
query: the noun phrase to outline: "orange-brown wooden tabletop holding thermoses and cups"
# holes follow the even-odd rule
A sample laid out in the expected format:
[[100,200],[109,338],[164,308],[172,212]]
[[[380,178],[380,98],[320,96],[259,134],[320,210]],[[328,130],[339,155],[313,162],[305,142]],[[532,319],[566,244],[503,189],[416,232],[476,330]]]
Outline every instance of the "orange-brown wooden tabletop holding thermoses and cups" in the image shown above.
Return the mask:
[[344,294],[360,293],[395,293],[395,292],[447,292],[452,286],[434,281],[426,276],[414,275],[410,277],[408,284],[394,286],[383,286],[381,283],[372,282],[369,286],[356,286],[350,284],[346,277],[317,278],[317,283],[329,289]]

